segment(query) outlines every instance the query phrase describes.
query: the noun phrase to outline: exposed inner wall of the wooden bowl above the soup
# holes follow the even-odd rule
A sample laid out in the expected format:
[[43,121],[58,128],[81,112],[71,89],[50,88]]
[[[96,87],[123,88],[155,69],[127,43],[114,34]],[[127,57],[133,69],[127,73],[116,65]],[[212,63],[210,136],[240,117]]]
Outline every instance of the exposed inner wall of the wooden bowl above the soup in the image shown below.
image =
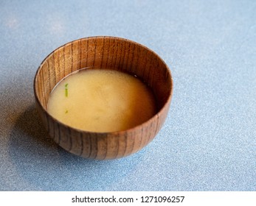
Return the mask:
[[81,68],[124,71],[146,82],[156,96],[158,111],[172,91],[167,65],[139,43],[111,37],[83,38],[72,41],[49,54],[35,76],[35,96],[46,110],[49,94],[61,79]]

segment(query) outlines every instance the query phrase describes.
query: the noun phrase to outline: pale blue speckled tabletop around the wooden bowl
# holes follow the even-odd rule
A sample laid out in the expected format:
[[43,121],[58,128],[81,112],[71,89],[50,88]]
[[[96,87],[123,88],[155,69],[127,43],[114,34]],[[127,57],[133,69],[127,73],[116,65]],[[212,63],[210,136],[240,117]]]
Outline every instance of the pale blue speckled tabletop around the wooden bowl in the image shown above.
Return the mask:
[[[0,1],[0,191],[255,191],[256,1]],[[95,35],[156,51],[173,74],[164,127],[142,151],[60,149],[35,110],[47,54]]]

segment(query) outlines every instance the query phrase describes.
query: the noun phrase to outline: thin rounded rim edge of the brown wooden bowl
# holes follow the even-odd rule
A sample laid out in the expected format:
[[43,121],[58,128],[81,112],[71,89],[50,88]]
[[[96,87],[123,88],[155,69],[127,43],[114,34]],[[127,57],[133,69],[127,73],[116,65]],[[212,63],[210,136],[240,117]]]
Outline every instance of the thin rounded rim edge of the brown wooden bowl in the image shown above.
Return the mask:
[[[162,63],[165,65],[165,68],[167,68],[167,74],[168,76],[170,76],[170,93],[168,94],[168,98],[167,100],[165,101],[165,104],[163,104],[163,106],[160,108],[160,110],[155,113],[151,118],[149,118],[147,121],[144,121],[142,124],[138,124],[134,127],[131,127],[129,129],[123,129],[123,130],[117,130],[117,131],[113,131],[113,132],[93,132],[93,131],[88,131],[88,130],[83,130],[83,129],[78,129],[78,128],[75,128],[75,127],[71,127],[69,126],[68,124],[64,124],[63,122],[59,121],[57,118],[53,117],[52,115],[50,115],[48,113],[47,110],[44,109],[43,105],[41,104],[41,101],[39,100],[38,98],[38,93],[36,92],[36,88],[35,88],[35,85],[36,85],[36,80],[37,80],[37,77],[38,77],[38,73],[41,69],[41,66],[45,63],[45,61],[48,59],[48,57],[50,57],[52,54],[54,54],[55,51],[57,51],[58,49],[60,48],[63,48],[63,46],[67,46],[71,43],[74,43],[76,41],[80,41],[80,40],[89,40],[89,39],[97,39],[97,38],[111,38],[111,39],[117,39],[117,40],[123,40],[123,41],[128,41],[129,43],[133,43],[133,44],[136,44],[138,46],[141,46],[142,48],[148,50],[148,51],[151,51],[153,53],[154,56],[156,56],[157,58],[159,58],[159,60],[162,61]],[[61,79],[60,79],[61,81]],[[56,85],[55,85],[56,86]],[[64,43],[62,46],[59,46],[58,48],[54,49],[52,52],[50,52],[45,58],[44,60],[41,62],[41,64],[38,66],[38,69],[37,71],[35,72],[35,77],[34,77],[34,81],[33,81],[33,90],[34,90],[34,96],[35,96],[35,100],[36,102],[38,103],[38,105],[41,107],[41,110],[43,110],[44,113],[46,113],[47,116],[49,116],[50,118],[52,118],[54,121],[56,121],[58,124],[62,125],[63,127],[66,127],[68,129],[72,129],[72,130],[75,130],[77,132],[82,132],[82,133],[86,133],[86,134],[91,134],[91,133],[97,133],[97,134],[100,134],[100,135],[108,135],[108,134],[111,134],[111,135],[120,135],[120,134],[123,134],[123,133],[128,133],[128,132],[133,132],[134,130],[137,130],[139,128],[142,128],[144,127],[145,125],[147,125],[149,122],[153,121],[155,118],[157,118],[157,121],[159,121],[159,114],[160,113],[163,113],[163,110],[165,109],[165,107],[168,106],[169,104],[169,107],[170,107],[170,102],[171,102],[171,99],[173,97],[173,76],[171,74],[171,71],[170,71],[170,68],[168,67],[168,65],[165,63],[164,60],[162,60],[162,57],[159,56],[159,54],[156,54],[155,51],[153,51],[152,49],[149,49],[147,46],[144,46],[142,45],[141,43],[137,43],[136,41],[134,40],[129,40],[129,39],[126,39],[126,38],[120,38],[120,37],[115,37],[115,36],[90,36],[90,37],[86,37],[86,38],[79,38],[79,39],[76,39],[76,40],[72,40],[68,43]],[[157,128],[157,127],[156,127]],[[155,132],[156,133],[156,132]],[[155,134],[156,135],[156,134]]]

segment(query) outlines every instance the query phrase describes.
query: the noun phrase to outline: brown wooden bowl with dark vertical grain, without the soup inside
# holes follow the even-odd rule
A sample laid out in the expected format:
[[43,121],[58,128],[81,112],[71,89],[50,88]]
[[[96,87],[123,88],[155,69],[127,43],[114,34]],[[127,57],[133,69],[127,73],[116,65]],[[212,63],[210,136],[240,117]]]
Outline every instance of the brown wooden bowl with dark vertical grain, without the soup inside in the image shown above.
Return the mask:
[[[50,116],[46,109],[52,89],[63,77],[86,67],[111,68],[143,79],[156,96],[156,115],[118,132],[83,131]],[[165,122],[173,81],[165,62],[147,47],[123,38],[99,36],[74,40],[52,51],[35,74],[34,92],[44,127],[56,143],[81,157],[106,160],[133,154],[153,140]]]

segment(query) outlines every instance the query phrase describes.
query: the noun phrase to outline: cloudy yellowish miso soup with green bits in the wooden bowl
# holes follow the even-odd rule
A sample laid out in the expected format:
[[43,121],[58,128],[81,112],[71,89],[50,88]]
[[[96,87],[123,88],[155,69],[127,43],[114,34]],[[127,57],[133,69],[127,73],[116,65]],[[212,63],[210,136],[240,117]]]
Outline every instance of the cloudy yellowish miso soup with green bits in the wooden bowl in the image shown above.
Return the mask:
[[47,110],[77,129],[114,132],[147,121],[156,113],[156,103],[151,89],[130,74],[83,69],[56,85]]

